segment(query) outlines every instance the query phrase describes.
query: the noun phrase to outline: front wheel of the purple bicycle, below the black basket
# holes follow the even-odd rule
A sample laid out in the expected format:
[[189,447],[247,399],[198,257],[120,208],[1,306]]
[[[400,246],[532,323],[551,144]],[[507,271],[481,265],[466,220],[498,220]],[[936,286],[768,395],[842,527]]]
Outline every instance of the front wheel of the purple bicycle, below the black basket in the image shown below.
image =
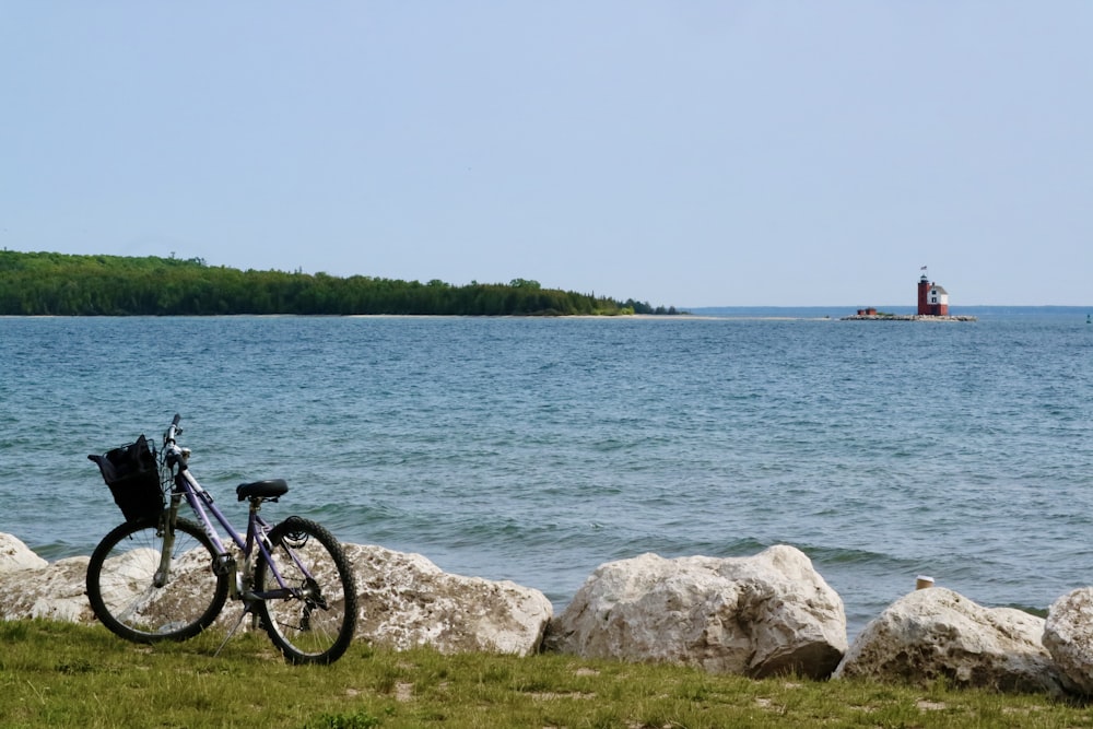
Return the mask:
[[212,541],[197,524],[175,520],[171,579],[160,566],[160,517],[127,521],[103,538],[87,563],[91,609],[111,633],[134,643],[184,640],[209,627],[227,599],[227,575],[213,574]]

